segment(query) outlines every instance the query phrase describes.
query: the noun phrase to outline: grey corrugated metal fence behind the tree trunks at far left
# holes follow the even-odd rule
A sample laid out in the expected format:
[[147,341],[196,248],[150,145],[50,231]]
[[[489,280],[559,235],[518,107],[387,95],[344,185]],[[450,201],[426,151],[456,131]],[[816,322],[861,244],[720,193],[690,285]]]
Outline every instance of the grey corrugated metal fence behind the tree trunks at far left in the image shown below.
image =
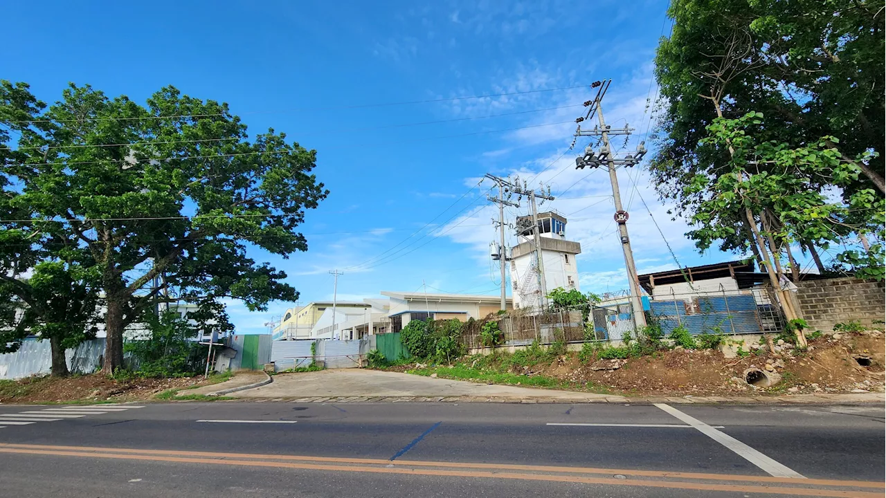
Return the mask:
[[[99,368],[102,354],[105,354],[104,338],[85,341],[65,352],[67,368],[71,373],[92,373]],[[0,354],[0,379],[47,375],[51,367],[52,354],[48,340],[28,339],[15,353]]]

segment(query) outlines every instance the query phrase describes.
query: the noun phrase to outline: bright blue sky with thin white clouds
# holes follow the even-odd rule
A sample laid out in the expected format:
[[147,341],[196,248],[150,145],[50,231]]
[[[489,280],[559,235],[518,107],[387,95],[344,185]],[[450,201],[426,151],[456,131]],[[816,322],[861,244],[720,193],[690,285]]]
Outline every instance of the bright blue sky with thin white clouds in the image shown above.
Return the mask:
[[[472,189],[486,172],[541,172],[535,183],[562,198],[541,208],[567,215],[567,237],[582,245],[582,290],[615,292],[626,279],[608,178],[576,171],[567,151],[575,128],[567,121],[592,97],[587,87],[375,104],[612,78],[606,117],[638,128],[633,148],[649,128],[665,8],[665,0],[13,2],[4,5],[0,77],[30,83],[49,102],[67,82],[138,101],[173,84],[228,102],[252,133],[272,127],[316,149],[316,174],[331,194],[307,214],[308,252],[284,260],[253,251],[286,271],[302,303],[331,298],[333,268],[345,272],[344,300],[424,285],[496,294],[487,245],[497,209],[485,200],[488,182]],[[639,168],[619,178],[641,272],[675,266],[641,198],[681,264],[733,257],[699,255]],[[525,206],[509,217],[517,212]],[[289,306],[249,313],[231,302],[229,313],[239,331],[258,332]]]

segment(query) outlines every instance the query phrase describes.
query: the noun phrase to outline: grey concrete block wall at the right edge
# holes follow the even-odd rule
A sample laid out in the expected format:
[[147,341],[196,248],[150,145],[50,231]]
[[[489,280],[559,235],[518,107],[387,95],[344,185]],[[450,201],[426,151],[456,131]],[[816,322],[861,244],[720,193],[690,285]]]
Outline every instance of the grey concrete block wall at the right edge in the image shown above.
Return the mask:
[[886,320],[886,282],[851,276],[805,281],[797,300],[812,331],[831,331],[836,323],[852,320],[867,327]]

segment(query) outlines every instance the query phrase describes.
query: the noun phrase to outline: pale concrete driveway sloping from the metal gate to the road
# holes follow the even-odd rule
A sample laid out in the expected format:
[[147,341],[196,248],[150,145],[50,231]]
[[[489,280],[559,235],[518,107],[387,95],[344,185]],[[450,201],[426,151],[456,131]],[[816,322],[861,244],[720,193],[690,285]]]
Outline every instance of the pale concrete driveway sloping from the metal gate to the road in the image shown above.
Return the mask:
[[476,396],[522,399],[556,398],[575,401],[612,397],[603,394],[533,389],[512,385],[474,384],[461,380],[363,369],[278,374],[274,376],[274,382],[271,384],[229,395],[239,398]]

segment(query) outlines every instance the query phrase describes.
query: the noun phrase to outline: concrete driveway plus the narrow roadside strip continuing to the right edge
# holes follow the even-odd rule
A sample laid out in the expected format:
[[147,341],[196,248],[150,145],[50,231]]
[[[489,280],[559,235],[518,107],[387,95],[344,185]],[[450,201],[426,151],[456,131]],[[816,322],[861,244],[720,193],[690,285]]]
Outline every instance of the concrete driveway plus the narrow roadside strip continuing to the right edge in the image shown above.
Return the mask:
[[503,402],[503,403],[678,403],[790,404],[881,403],[886,393],[793,394],[784,396],[623,396],[557,391],[515,385],[475,384],[397,372],[362,369],[278,374],[274,382],[231,393],[243,400],[298,402]]

